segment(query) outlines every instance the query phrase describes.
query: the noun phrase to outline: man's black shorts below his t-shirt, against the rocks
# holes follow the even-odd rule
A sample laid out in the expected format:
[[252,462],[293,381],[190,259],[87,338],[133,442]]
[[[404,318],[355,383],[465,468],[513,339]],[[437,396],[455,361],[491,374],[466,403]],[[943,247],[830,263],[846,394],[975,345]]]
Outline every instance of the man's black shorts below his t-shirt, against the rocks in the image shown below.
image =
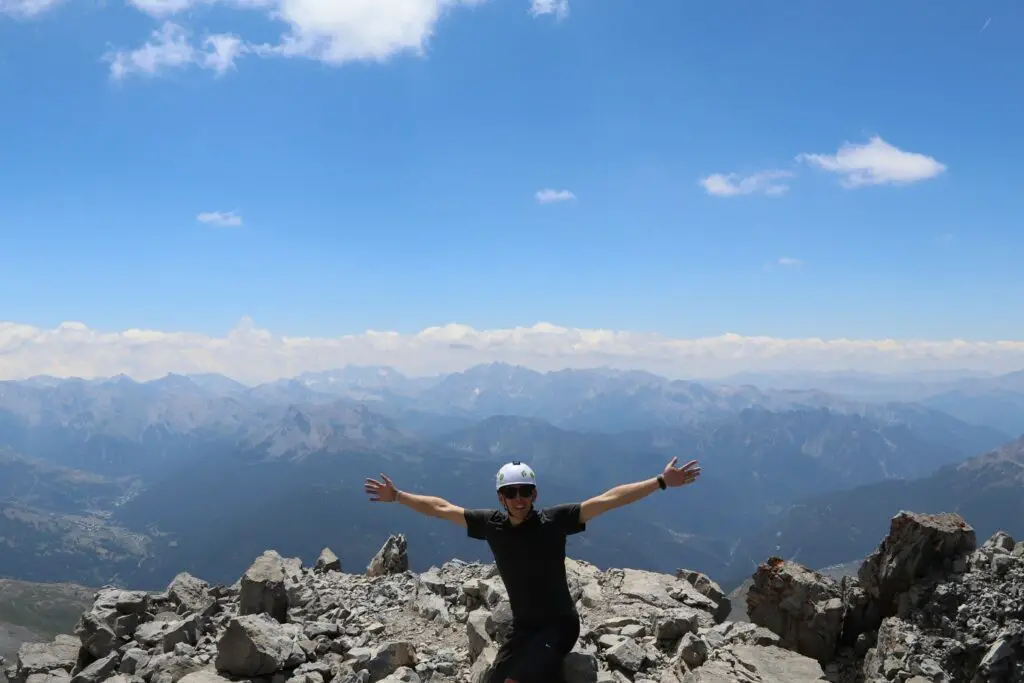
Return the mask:
[[580,620],[516,624],[487,676],[487,683],[562,683],[562,661],[580,637]]

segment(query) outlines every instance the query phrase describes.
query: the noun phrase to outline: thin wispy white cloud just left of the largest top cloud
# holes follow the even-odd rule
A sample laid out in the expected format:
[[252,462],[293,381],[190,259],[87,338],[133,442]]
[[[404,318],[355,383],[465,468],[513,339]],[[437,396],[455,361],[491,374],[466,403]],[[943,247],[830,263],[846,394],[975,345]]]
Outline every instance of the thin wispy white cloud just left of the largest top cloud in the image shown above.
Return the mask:
[[185,28],[164,22],[141,47],[108,53],[105,59],[111,62],[111,76],[116,80],[132,74],[155,76],[166,70],[193,66],[220,75],[231,69],[234,59],[247,49],[241,39],[226,34],[207,36],[200,49],[193,45]]

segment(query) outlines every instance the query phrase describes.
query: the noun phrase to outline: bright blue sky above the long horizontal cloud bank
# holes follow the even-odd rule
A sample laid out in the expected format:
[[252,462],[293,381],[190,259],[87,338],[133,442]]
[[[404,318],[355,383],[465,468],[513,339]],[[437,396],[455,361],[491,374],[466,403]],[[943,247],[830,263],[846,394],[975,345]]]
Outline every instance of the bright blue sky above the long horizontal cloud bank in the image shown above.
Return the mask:
[[1024,337],[1016,2],[31,1],[2,321]]

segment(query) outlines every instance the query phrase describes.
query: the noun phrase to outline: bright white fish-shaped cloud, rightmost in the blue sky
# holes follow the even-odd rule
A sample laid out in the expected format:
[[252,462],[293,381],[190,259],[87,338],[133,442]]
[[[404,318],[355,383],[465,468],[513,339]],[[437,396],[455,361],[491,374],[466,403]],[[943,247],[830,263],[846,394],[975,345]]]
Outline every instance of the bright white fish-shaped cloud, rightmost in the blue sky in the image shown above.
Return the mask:
[[863,144],[845,142],[835,155],[801,154],[806,162],[842,176],[845,187],[908,184],[943,173],[946,165],[915,152],[903,152],[876,135]]

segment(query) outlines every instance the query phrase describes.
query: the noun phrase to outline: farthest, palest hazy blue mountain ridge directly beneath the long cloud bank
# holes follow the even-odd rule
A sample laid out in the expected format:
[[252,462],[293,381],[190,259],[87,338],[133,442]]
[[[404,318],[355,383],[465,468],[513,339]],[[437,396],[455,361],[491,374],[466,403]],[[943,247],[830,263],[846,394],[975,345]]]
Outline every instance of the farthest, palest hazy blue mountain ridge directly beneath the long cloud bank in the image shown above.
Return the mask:
[[[229,426],[246,407],[342,401],[365,404],[407,426],[429,422],[436,428],[437,418],[444,417],[449,419],[444,427],[455,428],[494,415],[515,415],[565,429],[616,432],[691,425],[726,418],[748,408],[827,408],[839,413],[865,414],[878,412],[880,405],[898,412],[916,402],[918,410],[963,413],[966,417],[953,417],[1013,436],[1024,433],[1024,408],[1020,414],[1013,411],[1014,405],[1024,404],[1024,371],[1000,377],[956,376],[928,381],[862,375],[737,377],[758,378],[771,379],[777,382],[771,386],[784,388],[670,380],[643,371],[539,373],[501,362],[415,378],[386,367],[346,367],[254,387],[210,374],[168,375],[142,383],[124,376],[101,380],[36,377],[0,382],[0,411],[30,419],[80,416],[81,401],[91,400],[90,407],[98,409],[95,418],[105,418],[112,427],[137,432],[141,425],[158,422],[180,433],[211,423]],[[874,390],[865,391],[864,387]],[[870,398],[860,397],[865,393]],[[993,413],[993,407],[1001,407],[1001,413]],[[1002,426],[988,424],[991,421]]]

